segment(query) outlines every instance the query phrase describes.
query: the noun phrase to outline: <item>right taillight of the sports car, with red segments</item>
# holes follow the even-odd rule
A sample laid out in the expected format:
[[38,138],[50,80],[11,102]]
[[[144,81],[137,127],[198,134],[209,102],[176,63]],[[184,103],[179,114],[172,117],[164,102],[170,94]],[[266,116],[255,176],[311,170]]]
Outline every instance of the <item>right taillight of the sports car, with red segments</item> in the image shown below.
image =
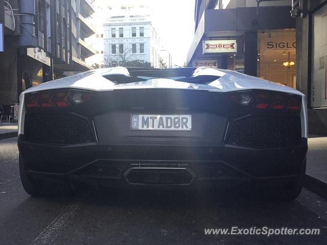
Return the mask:
[[227,93],[230,101],[255,109],[300,110],[301,96],[263,90]]

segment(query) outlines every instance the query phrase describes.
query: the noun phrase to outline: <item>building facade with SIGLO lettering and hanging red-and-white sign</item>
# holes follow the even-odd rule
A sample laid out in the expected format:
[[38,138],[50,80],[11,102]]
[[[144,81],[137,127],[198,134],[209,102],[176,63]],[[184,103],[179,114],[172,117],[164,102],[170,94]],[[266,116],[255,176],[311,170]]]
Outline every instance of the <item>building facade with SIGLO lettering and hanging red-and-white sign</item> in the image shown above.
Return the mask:
[[236,70],[296,87],[292,1],[196,0],[188,66]]

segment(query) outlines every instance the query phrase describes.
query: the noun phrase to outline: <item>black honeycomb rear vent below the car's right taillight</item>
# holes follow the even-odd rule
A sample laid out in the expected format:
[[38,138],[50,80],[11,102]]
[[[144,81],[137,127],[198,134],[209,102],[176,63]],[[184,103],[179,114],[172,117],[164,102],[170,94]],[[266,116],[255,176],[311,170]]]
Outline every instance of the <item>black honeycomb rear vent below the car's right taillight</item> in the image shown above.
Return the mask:
[[268,148],[298,145],[300,142],[301,122],[298,116],[247,116],[234,121],[226,144]]

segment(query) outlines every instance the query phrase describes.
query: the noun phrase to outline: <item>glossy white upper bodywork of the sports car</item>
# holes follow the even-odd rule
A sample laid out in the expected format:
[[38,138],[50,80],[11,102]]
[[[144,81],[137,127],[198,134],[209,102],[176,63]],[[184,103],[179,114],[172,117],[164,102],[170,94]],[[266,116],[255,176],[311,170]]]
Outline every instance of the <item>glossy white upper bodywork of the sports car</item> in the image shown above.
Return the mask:
[[[286,92],[302,96],[302,108],[301,120],[302,120],[302,136],[308,137],[308,114],[307,110],[307,99],[306,96],[300,91],[290,88],[288,86],[270,82],[267,80],[255,78],[252,76],[240,74],[239,72],[213,69],[207,67],[199,67],[193,72],[193,76],[211,75],[219,77],[217,80],[207,84],[192,84],[185,82],[178,82],[172,79],[159,78],[149,79],[142,83],[128,83],[128,84],[115,84],[109,81],[104,76],[106,75],[124,75],[129,76],[128,69],[125,67],[112,67],[102,68],[97,70],[90,70],[82,72],[81,74],[74,75],[71,77],[61,78],[40,84],[35,87],[31,87],[20,95],[20,112],[19,112],[19,127],[18,133],[24,133],[24,94],[48,90],[48,89],[59,89],[59,88],[75,88],[85,89],[91,91],[113,91],[118,89],[160,89],[160,88],[171,88],[171,89],[188,89],[188,90],[205,90],[209,92],[232,92],[242,91],[250,89],[265,89],[271,91]],[[23,119],[21,119],[23,118]]]

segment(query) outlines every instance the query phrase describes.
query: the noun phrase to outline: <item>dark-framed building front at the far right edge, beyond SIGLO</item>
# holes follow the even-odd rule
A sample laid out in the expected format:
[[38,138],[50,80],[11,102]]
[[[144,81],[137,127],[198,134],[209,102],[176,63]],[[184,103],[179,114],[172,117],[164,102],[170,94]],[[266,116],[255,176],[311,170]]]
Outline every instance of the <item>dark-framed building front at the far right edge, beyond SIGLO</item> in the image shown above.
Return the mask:
[[309,133],[327,135],[327,1],[301,0],[294,10],[296,74],[308,96]]

